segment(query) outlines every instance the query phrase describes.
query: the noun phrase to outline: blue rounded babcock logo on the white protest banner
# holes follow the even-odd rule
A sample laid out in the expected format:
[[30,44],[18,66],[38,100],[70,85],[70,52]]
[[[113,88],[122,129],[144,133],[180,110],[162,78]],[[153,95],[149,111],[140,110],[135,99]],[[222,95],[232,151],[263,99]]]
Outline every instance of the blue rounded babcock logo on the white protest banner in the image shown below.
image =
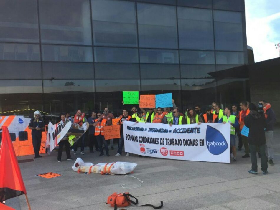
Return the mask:
[[207,149],[213,155],[220,155],[228,148],[228,143],[223,134],[209,125],[207,125],[205,139]]

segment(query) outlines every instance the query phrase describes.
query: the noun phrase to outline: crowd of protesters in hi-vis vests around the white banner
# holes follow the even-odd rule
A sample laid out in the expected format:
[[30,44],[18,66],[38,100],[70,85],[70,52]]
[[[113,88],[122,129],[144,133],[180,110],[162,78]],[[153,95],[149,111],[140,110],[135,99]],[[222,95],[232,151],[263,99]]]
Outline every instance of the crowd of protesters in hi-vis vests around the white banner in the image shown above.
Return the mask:
[[[245,148],[245,154],[242,158],[249,158],[251,154],[252,169],[249,173],[257,173],[257,153],[261,158],[263,174],[267,173],[267,163],[269,163],[269,165],[274,165],[273,126],[276,123],[276,116],[271,109],[271,105],[266,103],[265,100],[259,101],[258,108],[253,103],[246,101],[240,102],[240,111],[238,110],[238,105],[228,106],[223,110],[218,102],[213,102],[212,107],[209,106],[205,110],[201,110],[200,105],[195,105],[194,107],[188,108],[185,113],[182,113],[174,104],[174,100],[172,100],[172,104],[173,107],[168,108],[123,108],[122,114],[116,116],[116,118],[107,107],[104,108],[104,112],[93,111],[88,119],[86,119],[85,113],[78,110],[73,118],[70,117],[70,113],[61,114],[60,123],[65,125],[67,122],[71,121],[73,125],[81,125],[88,122],[89,152],[93,153],[93,147],[95,147],[95,151],[100,152],[99,156],[104,155],[104,149],[106,156],[110,156],[108,147],[109,143],[111,149],[114,150],[113,139],[105,140],[103,134],[103,127],[112,125],[113,119],[119,119],[116,124],[120,125],[121,136],[118,143],[118,151],[115,156],[121,156],[123,151],[123,121],[132,121],[136,123],[163,123],[169,124],[169,126],[194,123],[197,123],[198,125],[201,123],[230,123],[230,155],[231,158],[233,158],[233,161],[237,161],[235,147],[235,138],[237,136],[238,150],[241,150],[243,145]],[[259,108],[259,105],[262,105],[261,109]],[[44,123],[42,122],[42,119],[40,120],[38,113],[36,113],[36,115],[34,113],[34,118],[35,120],[30,121],[29,129],[32,129],[35,158],[38,158],[41,156],[37,150],[37,142],[40,138],[39,133],[44,129]],[[244,126],[248,127],[250,130],[248,137],[241,134]],[[84,133],[73,145],[74,155],[77,155],[77,145],[79,142],[81,143],[80,154],[85,154],[85,135],[86,133]],[[70,156],[69,142],[61,140],[58,150],[58,162],[61,161],[63,145],[65,145],[66,148],[67,160],[73,160]],[[126,153],[126,156],[130,156],[130,153]]]

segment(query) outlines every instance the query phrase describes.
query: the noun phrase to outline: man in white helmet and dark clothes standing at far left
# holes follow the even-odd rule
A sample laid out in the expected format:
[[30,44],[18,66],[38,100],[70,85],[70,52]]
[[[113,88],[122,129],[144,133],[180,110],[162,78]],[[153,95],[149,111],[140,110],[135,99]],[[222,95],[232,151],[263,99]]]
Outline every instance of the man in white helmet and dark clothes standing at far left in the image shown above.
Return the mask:
[[42,131],[45,129],[45,123],[41,118],[41,113],[39,111],[34,112],[34,119],[30,120],[29,129],[31,129],[32,144],[34,149],[34,158],[41,158],[39,155],[41,140],[42,140]]

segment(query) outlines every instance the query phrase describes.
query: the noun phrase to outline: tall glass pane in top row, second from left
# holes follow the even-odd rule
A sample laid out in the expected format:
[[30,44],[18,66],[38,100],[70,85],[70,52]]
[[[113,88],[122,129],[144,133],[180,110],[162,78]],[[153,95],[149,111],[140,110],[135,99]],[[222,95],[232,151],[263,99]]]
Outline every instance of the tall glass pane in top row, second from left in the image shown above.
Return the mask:
[[39,14],[42,43],[91,45],[88,0],[39,0]]

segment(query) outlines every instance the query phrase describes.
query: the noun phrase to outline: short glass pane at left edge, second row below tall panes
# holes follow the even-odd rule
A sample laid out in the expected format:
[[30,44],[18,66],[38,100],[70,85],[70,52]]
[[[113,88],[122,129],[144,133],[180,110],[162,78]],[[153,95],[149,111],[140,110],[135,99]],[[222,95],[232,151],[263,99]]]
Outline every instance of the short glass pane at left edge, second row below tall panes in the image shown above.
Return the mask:
[[41,63],[0,61],[1,79],[42,79]]

